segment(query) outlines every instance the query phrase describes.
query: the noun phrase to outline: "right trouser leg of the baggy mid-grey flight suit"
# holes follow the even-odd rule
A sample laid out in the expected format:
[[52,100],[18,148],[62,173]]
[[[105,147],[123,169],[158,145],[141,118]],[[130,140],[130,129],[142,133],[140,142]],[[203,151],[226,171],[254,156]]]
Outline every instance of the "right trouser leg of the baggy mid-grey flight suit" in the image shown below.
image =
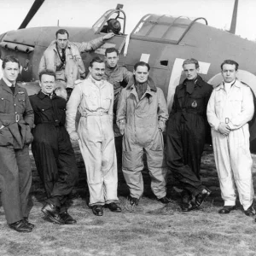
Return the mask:
[[157,131],[154,139],[154,147],[158,150],[145,148],[148,161],[148,171],[151,177],[151,189],[154,195],[160,199],[166,196],[166,160],[164,157],[164,142],[162,133]]

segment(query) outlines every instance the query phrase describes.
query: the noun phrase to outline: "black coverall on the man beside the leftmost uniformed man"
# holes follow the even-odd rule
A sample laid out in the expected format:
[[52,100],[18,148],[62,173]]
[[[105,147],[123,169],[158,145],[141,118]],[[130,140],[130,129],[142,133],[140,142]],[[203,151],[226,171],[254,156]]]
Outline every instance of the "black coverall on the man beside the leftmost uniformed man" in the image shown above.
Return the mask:
[[30,96],[30,102],[36,125],[32,130],[32,154],[38,174],[44,183],[47,202],[65,212],[67,195],[72,192],[79,175],[73,147],[64,126],[67,102],[55,94],[50,99],[42,91]]

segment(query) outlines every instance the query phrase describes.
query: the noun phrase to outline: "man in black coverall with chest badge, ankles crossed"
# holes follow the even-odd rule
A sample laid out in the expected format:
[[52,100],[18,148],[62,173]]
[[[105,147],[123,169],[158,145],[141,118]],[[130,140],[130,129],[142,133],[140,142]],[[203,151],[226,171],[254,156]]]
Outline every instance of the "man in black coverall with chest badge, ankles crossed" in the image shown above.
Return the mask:
[[186,79],[175,90],[166,129],[166,160],[183,189],[182,210],[188,212],[200,207],[211,193],[201,183],[200,169],[212,85],[198,75],[199,64],[195,59],[184,61],[183,71]]

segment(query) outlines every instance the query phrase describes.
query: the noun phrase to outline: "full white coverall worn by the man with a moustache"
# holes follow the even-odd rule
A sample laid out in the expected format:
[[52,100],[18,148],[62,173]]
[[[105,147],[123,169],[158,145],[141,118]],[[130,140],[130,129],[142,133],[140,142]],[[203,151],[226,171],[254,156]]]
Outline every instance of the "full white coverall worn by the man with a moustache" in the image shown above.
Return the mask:
[[113,137],[113,85],[91,76],[77,84],[67,102],[67,131],[75,129],[77,110],[79,147],[84,158],[90,206],[117,202],[117,161]]

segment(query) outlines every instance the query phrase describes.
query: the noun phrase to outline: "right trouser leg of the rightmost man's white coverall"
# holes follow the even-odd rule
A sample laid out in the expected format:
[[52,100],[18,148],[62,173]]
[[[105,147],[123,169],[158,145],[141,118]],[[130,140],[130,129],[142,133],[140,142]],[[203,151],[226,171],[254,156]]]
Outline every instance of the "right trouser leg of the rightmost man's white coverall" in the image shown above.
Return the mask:
[[253,160],[250,153],[249,137],[247,125],[230,131],[229,134],[230,164],[234,173],[239,200],[244,210],[252,205],[254,197]]

